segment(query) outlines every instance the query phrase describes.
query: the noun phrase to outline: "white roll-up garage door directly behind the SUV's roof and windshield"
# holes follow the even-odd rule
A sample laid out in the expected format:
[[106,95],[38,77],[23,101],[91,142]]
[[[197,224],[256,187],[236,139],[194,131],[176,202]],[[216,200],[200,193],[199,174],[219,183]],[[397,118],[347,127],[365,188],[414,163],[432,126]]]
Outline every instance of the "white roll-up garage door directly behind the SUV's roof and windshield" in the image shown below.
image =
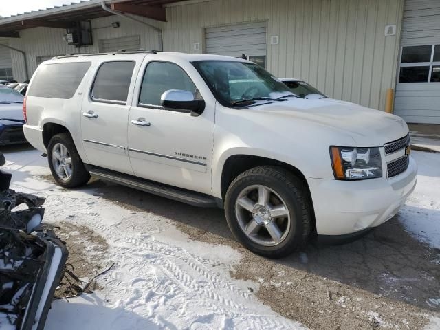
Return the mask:
[[248,56],[250,61],[266,66],[266,22],[224,25],[206,28],[206,53]]

